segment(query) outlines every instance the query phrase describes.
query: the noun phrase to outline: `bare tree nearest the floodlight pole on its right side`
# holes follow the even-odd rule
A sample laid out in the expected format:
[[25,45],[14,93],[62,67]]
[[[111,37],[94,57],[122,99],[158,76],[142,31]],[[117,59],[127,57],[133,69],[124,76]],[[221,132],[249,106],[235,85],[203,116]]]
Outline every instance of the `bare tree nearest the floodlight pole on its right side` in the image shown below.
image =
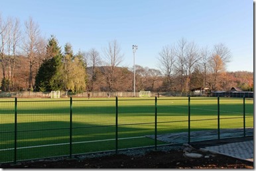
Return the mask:
[[162,73],[166,77],[166,90],[172,87],[172,75],[174,73],[174,63],[176,61],[174,46],[164,46],[159,52],[159,63]]

